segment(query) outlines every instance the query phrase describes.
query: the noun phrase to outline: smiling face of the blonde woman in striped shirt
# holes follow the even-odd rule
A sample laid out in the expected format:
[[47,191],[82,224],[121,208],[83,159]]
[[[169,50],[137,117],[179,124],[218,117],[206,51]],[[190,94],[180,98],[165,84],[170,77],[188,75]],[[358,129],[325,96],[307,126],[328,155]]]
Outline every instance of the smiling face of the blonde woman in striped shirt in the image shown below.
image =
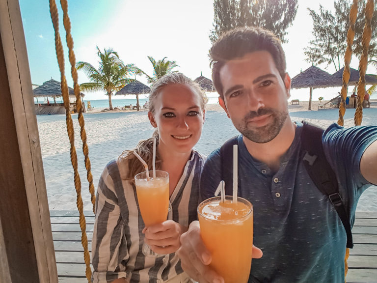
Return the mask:
[[163,86],[154,99],[154,112],[148,117],[158,128],[159,150],[191,152],[199,141],[204,123],[201,98],[189,85]]

